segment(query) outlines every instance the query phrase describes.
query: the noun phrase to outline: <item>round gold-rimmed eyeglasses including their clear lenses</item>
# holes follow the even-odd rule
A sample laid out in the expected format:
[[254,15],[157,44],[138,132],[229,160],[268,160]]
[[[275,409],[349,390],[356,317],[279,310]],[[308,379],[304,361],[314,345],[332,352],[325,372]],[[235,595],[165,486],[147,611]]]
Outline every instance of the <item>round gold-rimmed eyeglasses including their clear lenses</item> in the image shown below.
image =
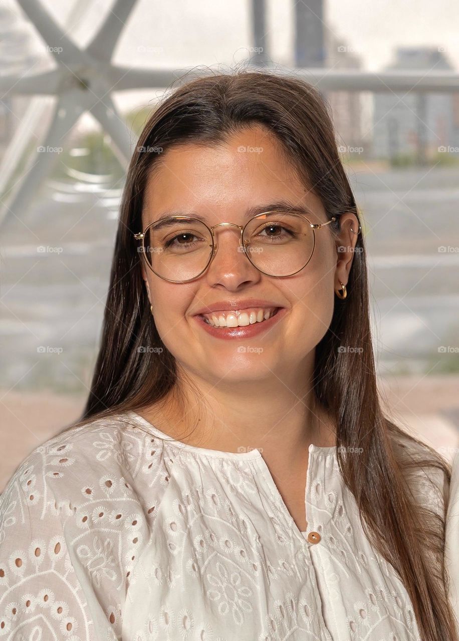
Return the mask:
[[208,227],[188,216],[171,216],[151,222],[135,233],[142,240],[138,251],[151,271],[171,283],[188,283],[199,278],[217,253],[214,229],[235,227],[240,230],[238,251],[267,276],[293,276],[306,267],[315,247],[315,231],[336,221],[313,224],[303,213],[263,212],[244,227],[220,222]]

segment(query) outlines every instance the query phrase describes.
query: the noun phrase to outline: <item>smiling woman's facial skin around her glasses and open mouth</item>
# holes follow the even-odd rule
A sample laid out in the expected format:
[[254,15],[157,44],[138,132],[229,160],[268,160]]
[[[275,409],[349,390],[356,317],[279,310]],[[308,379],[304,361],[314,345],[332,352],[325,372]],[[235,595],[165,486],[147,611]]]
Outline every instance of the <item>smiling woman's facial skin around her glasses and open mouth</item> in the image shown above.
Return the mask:
[[[321,201],[288,166],[276,139],[256,126],[218,147],[185,144],[165,153],[147,184],[142,222],[145,227],[179,212],[201,215],[208,226],[244,226],[249,208],[281,200],[306,206],[313,223],[328,221]],[[346,216],[357,229],[355,216]],[[351,233],[343,244],[355,238]],[[262,274],[238,251],[239,229],[215,229],[215,242],[210,267],[188,283],[165,281],[142,263],[154,322],[167,349],[188,373],[215,384],[296,376],[313,362],[315,345],[330,326],[338,279],[347,282],[352,258],[337,253],[330,226],[315,232],[315,251],[306,267],[286,278]],[[208,333],[196,315],[209,304],[248,299],[283,308],[274,323],[263,321],[270,325],[262,329],[260,323],[252,337],[224,340]]]

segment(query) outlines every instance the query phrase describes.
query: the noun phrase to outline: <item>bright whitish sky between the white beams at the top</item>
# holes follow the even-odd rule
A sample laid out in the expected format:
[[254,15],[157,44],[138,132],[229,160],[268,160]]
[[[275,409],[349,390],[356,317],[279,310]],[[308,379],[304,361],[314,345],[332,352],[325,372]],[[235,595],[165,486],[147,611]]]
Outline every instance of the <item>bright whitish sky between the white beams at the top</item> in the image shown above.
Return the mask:
[[[0,1],[20,11],[15,0]],[[40,1],[62,24],[74,12],[76,19],[67,29],[80,44],[90,40],[113,6],[113,0]],[[138,67],[232,67],[247,58],[253,45],[250,6],[250,0],[138,0],[114,60]],[[294,60],[293,7],[293,0],[267,1],[269,53],[274,62],[287,67]],[[324,7],[325,28],[360,54],[363,69],[384,69],[398,46],[443,47],[459,69],[457,0],[328,0]],[[132,99],[136,100],[125,96],[121,103],[127,105]],[[142,92],[138,99],[142,103],[153,96]]]

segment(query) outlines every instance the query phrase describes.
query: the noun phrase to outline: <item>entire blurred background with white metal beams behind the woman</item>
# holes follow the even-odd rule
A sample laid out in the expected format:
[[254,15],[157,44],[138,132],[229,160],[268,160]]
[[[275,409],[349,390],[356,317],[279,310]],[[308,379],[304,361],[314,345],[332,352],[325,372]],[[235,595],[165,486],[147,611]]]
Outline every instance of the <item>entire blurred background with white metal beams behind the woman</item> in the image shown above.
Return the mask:
[[76,420],[147,117],[194,74],[267,67],[330,103],[369,251],[385,408],[459,447],[459,4],[2,0],[0,491]]

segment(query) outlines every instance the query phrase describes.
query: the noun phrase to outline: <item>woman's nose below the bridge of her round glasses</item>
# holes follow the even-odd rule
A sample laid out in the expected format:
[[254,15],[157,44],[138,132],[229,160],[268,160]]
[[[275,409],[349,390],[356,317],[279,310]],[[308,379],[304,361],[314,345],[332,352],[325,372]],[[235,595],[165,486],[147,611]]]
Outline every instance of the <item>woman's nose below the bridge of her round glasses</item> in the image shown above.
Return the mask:
[[242,251],[240,226],[234,223],[220,223],[213,229],[221,226],[217,232],[214,231],[213,256],[205,274],[209,284],[220,283],[232,289],[241,283],[255,282],[260,278],[260,272]]

